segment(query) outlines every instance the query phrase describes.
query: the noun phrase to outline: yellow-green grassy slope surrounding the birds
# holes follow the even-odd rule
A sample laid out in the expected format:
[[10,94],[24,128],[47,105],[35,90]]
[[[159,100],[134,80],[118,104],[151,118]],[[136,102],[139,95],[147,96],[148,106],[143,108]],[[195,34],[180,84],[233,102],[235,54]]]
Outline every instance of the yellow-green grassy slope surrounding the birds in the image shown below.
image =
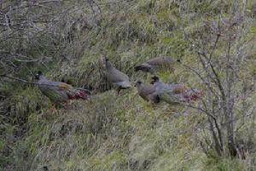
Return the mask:
[[[108,17],[102,22],[101,30],[86,31],[81,37],[86,43],[84,54],[67,71],[74,83],[100,87],[102,78],[97,62],[102,55],[107,55],[128,73],[132,82],[137,79],[148,82],[149,76],[133,73],[132,66],[157,55],[182,58],[196,66],[179,25],[183,24],[192,34],[207,18],[203,15],[205,11],[225,8],[225,4],[216,1],[212,6],[202,3],[198,7],[191,3],[190,13],[181,17],[178,8],[168,2],[137,1],[126,7],[126,12],[118,14],[106,9]],[[201,10],[194,14],[195,9]],[[190,15],[194,15],[193,25],[189,22]],[[255,28],[254,24],[252,34]],[[252,52],[254,58],[255,54]],[[63,64],[62,68],[65,67]],[[159,75],[166,81],[199,86],[193,74],[176,67],[173,74],[160,72]],[[255,74],[255,66],[251,67],[249,72]],[[48,76],[55,77],[54,74]],[[17,88],[13,103],[15,117],[26,116],[27,130],[13,145],[11,157],[2,160],[13,164],[16,170],[42,170],[44,166],[50,170],[242,170],[251,167],[247,164],[249,161],[207,158],[198,143],[204,116],[181,106],[150,105],[138,97],[135,88],[122,96],[116,96],[113,91],[96,94],[90,101],[73,102],[71,109],[55,113],[49,111],[49,101],[37,88]],[[38,103],[40,111],[36,109]],[[15,132],[14,127],[7,129]],[[2,146],[5,143],[8,140],[3,141]]]

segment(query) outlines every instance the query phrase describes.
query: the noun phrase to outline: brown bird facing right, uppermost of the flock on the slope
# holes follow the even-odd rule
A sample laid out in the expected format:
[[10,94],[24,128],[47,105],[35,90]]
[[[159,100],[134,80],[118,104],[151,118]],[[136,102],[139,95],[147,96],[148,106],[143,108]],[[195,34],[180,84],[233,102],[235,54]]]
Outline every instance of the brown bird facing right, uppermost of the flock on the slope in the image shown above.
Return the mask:
[[174,64],[174,61],[175,60],[170,57],[157,57],[150,59],[139,66],[135,66],[134,70],[154,73],[154,71],[159,68],[170,68],[173,71],[172,65]]

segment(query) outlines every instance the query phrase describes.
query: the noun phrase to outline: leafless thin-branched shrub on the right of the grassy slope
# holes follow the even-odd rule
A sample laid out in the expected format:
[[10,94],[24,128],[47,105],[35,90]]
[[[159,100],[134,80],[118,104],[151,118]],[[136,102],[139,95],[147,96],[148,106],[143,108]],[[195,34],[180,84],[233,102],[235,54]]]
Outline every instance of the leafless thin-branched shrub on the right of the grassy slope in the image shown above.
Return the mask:
[[255,80],[247,65],[255,61],[247,52],[255,35],[249,32],[252,19],[245,14],[246,6],[246,2],[233,1],[230,12],[221,11],[218,19],[205,20],[192,36],[183,31],[201,66],[196,69],[183,64],[206,89],[202,105],[190,106],[207,116],[207,136],[201,147],[211,157],[244,159],[254,138],[249,133],[254,125]]

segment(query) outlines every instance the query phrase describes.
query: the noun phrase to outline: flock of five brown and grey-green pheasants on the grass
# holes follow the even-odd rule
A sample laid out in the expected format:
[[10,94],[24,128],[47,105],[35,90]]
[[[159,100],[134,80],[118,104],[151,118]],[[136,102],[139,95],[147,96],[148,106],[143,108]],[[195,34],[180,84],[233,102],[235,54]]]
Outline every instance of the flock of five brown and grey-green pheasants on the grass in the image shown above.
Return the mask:
[[[136,66],[135,71],[145,71],[154,73],[160,67],[169,67],[173,65],[174,60],[168,57],[159,57],[148,60],[143,64]],[[122,71],[119,71],[106,58],[104,63],[104,74],[108,82],[117,88],[118,94],[121,89],[131,88],[129,77]],[[170,68],[170,67],[169,67]],[[53,82],[44,77],[42,71],[36,75],[38,88],[54,103],[67,102],[68,100],[82,99],[87,100],[90,97],[90,91],[84,88],[73,88],[72,85],[62,82]],[[137,93],[143,100],[151,101],[154,104],[160,101],[166,101],[169,104],[189,102],[199,99],[203,92],[197,89],[186,88],[180,83],[164,83],[160,77],[152,77],[150,84],[144,84],[141,81],[136,83]]]

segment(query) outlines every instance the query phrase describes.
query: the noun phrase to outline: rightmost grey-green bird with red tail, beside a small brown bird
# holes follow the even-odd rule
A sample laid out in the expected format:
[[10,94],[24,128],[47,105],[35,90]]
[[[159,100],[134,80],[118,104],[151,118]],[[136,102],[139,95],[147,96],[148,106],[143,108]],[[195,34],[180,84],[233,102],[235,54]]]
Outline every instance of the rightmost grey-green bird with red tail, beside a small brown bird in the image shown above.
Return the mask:
[[166,101],[169,104],[178,104],[181,102],[189,102],[198,100],[204,93],[197,89],[186,88],[180,83],[164,83],[159,77],[152,77],[151,82],[154,85],[155,92],[160,100]]

